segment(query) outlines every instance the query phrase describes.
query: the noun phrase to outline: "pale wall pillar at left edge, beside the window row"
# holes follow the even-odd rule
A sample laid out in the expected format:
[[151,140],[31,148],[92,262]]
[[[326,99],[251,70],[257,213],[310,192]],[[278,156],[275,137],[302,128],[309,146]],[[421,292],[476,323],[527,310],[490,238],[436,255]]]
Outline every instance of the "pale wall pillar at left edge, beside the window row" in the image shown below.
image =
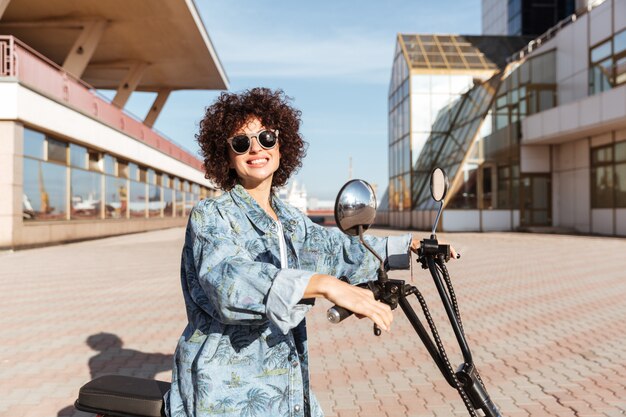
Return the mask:
[[16,243],[22,226],[24,128],[0,121],[0,248]]

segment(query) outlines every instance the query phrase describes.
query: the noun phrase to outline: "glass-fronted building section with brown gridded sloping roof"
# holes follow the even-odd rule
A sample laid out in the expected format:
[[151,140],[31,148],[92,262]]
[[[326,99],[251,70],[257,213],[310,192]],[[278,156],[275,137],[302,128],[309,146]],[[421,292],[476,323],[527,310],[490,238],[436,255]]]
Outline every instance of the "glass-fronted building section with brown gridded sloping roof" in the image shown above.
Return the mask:
[[389,88],[385,198],[393,224],[411,224],[416,163],[429,138],[444,133],[442,118],[460,94],[493,76],[505,64],[504,57],[526,42],[519,37],[398,35]]

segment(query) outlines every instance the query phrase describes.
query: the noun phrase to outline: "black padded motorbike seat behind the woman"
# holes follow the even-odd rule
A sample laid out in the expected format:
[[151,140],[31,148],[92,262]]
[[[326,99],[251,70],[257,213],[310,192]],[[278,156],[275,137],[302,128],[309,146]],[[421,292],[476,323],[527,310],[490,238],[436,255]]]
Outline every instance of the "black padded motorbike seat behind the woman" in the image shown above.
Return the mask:
[[161,417],[169,382],[122,375],[89,381],[78,392],[77,410],[115,417]]

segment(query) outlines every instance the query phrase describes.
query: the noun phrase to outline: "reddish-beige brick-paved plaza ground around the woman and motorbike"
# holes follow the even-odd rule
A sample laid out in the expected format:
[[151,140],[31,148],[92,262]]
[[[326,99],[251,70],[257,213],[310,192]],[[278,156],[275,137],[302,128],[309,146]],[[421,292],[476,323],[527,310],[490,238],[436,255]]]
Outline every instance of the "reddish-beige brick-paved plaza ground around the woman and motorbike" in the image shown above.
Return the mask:
[[[182,235],[0,253],[0,416],[83,416],[71,404],[101,374],[169,380],[186,323]],[[626,240],[443,237],[463,254],[449,269],[503,416],[626,415]],[[413,273],[452,346],[429,275]],[[366,321],[327,324],[328,306],[318,302],[308,316],[312,385],[327,416],[467,415],[400,310],[391,333],[374,337]]]

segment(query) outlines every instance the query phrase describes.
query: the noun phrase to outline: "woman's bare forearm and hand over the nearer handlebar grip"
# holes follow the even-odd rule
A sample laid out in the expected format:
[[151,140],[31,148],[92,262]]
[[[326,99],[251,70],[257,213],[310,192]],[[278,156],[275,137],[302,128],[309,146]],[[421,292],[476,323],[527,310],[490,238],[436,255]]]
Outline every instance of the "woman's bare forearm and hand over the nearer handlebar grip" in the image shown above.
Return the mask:
[[332,275],[316,274],[311,277],[304,298],[323,297],[331,303],[352,311],[357,317],[367,317],[383,330],[391,330],[391,307],[374,299],[365,288],[340,281]]

